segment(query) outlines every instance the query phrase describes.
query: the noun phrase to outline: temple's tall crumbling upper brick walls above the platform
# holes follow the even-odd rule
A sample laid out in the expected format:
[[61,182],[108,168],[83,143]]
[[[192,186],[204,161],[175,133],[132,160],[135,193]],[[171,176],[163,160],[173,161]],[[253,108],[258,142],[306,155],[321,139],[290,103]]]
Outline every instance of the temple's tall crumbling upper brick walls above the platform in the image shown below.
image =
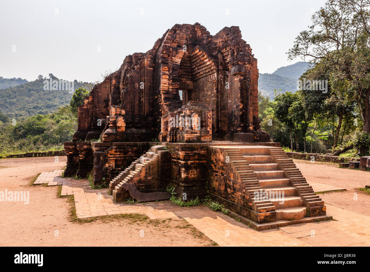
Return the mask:
[[257,60],[239,27],[212,36],[199,23],[176,24],[151,50],[127,56],[95,85],[79,107],[73,139],[166,141],[169,113],[188,101],[212,110],[215,139],[249,132],[255,141],[269,141],[259,125]]

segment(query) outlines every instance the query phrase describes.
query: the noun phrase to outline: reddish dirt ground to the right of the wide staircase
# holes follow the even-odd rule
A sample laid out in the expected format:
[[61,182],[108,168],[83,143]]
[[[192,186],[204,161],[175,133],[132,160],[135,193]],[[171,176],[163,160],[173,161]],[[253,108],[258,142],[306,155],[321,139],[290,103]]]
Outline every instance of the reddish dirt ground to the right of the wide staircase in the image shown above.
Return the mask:
[[293,161],[308,183],[310,181],[319,182],[347,189],[347,191],[342,192],[320,194],[325,203],[357,214],[370,216],[370,195],[357,190],[357,188],[370,185],[370,171],[339,168],[338,164],[330,162],[312,163],[300,159],[294,159]]

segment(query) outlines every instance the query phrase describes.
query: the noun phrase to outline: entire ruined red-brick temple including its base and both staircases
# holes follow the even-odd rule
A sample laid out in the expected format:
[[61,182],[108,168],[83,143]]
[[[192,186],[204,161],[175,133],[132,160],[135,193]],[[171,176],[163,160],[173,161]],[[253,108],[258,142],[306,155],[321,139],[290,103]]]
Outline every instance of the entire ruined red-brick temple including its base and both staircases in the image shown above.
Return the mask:
[[[239,27],[176,24],[85,98],[65,175],[109,183],[117,202],[168,199],[169,184],[185,199],[209,194],[259,229],[326,217],[279,147],[260,130],[257,60]],[[266,198],[272,189],[289,203]]]

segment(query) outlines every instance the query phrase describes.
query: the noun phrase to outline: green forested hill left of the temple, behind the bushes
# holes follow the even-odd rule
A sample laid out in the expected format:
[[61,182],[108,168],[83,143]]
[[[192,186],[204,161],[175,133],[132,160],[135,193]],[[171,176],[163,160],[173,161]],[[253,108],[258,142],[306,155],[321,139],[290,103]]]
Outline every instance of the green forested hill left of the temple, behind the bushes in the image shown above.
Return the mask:
[[62,90],[54,88],[53,90],[53,85],[44,90],[46,85],[44,81],[50,82],[50,79],[57,80],[57,82],[62,81],[53,74],[49,74],[49,78],[39,75],[34,81],[0,90],[0,112],[10,118],[53,113],[59,106],[69,103],[75,89],[83,87],[90,90],[94,85],[74,80],[70,82],[70,87],[73,85],[71,93],[68,88],[61,88]]

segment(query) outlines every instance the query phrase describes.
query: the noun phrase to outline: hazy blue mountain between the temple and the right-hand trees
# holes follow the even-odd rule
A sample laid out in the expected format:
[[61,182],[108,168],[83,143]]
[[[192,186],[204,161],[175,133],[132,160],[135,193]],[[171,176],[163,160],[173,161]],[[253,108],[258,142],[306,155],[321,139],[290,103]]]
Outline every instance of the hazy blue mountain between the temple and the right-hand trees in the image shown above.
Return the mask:
[[295,64],[277,68],[272,74],[259,74],[258,91],[263,95],[274,97],[274,89],[282,93],[297,90],[297,80],[309,67],[308,63],[299,61]]

